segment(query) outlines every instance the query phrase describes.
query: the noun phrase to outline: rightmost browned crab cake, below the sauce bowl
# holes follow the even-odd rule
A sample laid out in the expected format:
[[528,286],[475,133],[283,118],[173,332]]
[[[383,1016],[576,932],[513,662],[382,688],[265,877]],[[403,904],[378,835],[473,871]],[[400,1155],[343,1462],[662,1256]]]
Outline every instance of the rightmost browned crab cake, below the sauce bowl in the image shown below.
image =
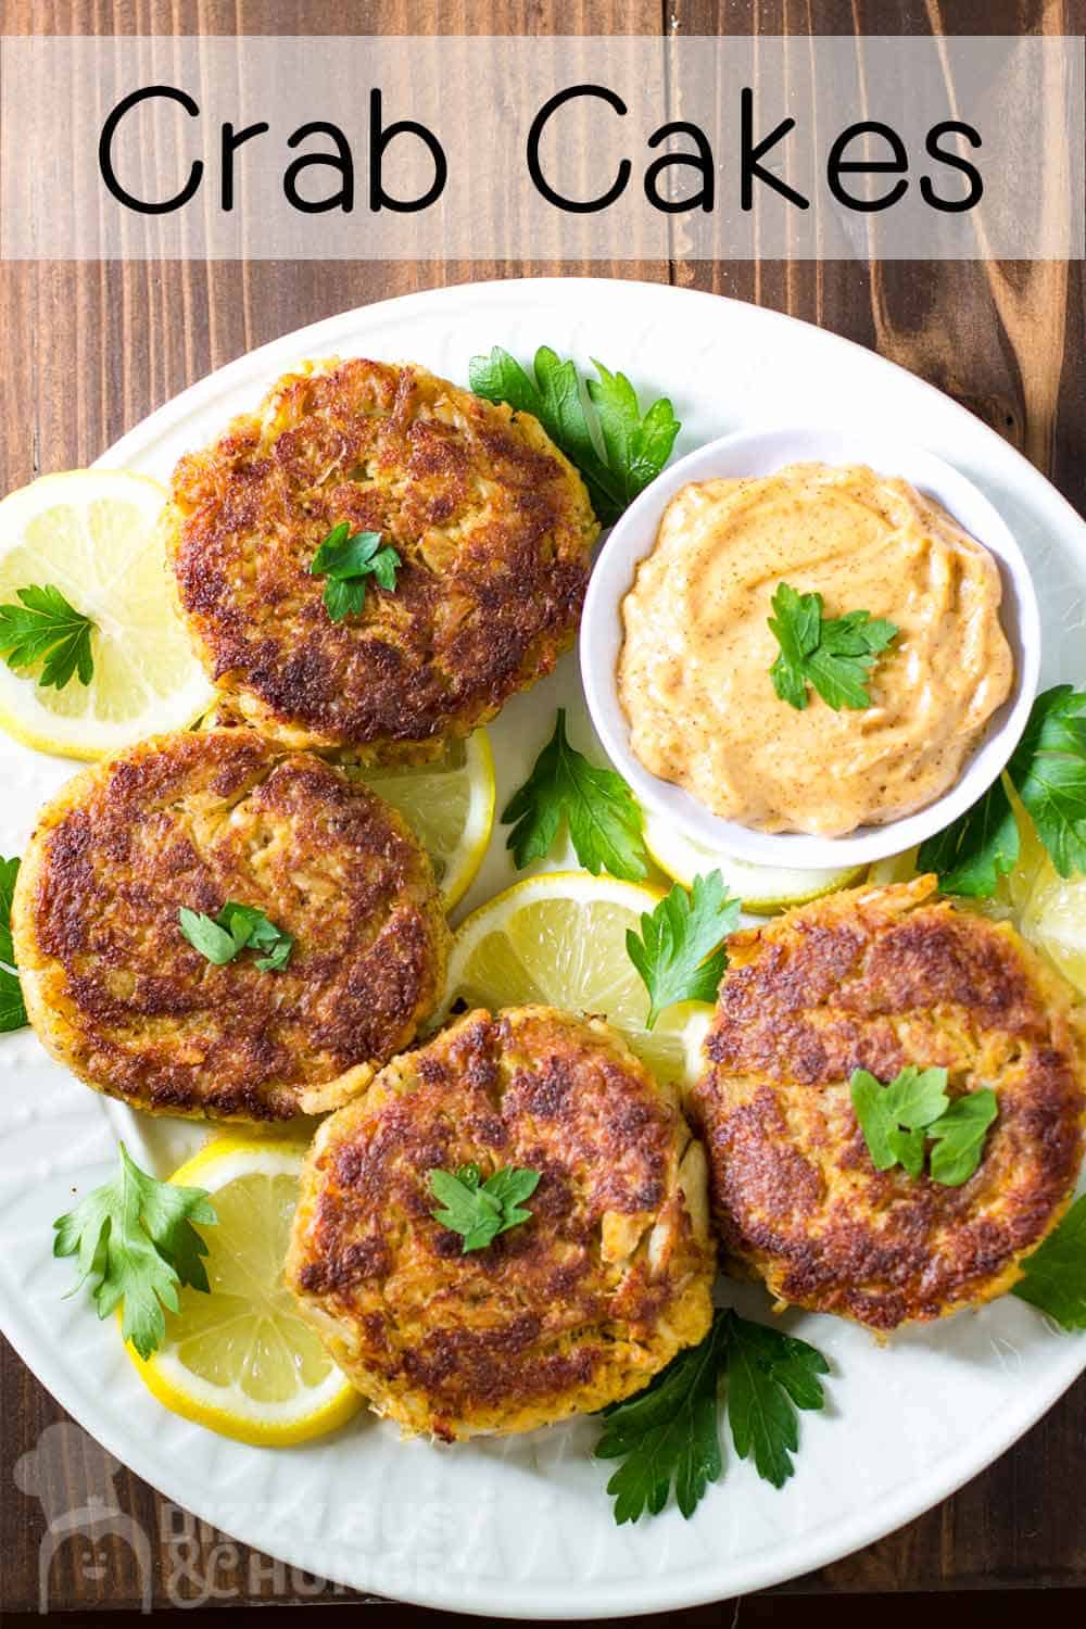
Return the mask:
[[[736,933],[692,1098],[726,1251],[780,1302],[876,1331],[1001,1295],[1075,1189],[1084,1039],[1063,979],[935,876]],[[961,1188],[871,1161],[852,1072],[907,1064],[944,1067],[951,1098],[996,1095]]]

